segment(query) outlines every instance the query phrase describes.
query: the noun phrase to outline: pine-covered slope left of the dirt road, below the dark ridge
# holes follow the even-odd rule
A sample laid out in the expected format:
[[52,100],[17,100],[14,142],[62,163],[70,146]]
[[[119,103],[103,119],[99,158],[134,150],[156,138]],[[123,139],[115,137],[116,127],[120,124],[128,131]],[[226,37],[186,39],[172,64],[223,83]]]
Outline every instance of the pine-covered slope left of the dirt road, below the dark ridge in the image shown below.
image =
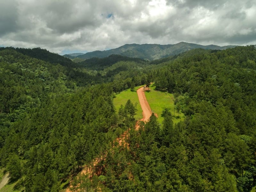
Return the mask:
[[28,55],[0,51],[0,166],[17,189],[59,191],[134,120],[100,75]]

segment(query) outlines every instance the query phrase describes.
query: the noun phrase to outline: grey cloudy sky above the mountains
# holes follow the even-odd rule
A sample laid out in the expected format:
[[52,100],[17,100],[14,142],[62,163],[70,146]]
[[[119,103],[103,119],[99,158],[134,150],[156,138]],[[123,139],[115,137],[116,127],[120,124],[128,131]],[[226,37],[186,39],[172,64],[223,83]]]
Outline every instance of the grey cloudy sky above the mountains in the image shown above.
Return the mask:
[[0,0],[0,46],[65,54],[181,41],[256,44],[256,0]]

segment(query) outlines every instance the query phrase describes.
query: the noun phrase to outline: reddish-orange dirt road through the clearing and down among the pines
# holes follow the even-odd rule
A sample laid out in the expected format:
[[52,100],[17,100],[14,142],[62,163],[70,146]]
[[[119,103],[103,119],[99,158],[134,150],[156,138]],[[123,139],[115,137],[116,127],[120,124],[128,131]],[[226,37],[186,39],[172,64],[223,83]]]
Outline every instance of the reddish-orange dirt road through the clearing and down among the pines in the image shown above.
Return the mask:
[[[137,90],[137,94],[138,94],[138,97],[139,97],[143,118],[140,119],[139,121],[137,121],[137,123],[136,123],[136,130],[138,130],[138,128],[139,128],[139,122],[140,121],[148,121],[149,117],[152,114],[151,108],[150,108],[150,106],[148,104],[148,101],[146,99],[146,95],[145,95],[145,92],[144,92],[144,87],[139,88]],[[122,134],[122,137],[119,138],[119,145],[121,145],[121,143],[124,143],[124,145],[127,146],[127,143],[125,143],[125,138],[127,136],[128,136],[128,131],[125,131]],[[94,159],[93,166],[95,167],[97,164],[98,164],[98,158]],[[85,165],[84,168],[83,168],[83,171],[81,173],[83,173],[83,174],[90,174],[90,176],[91,176],[92,172],[93,172],[92,167],[88,167],[87,165]],[[67,188],[66,192],[71,192],[71,190],[69,189],[70,187],[71,186],[69,186]]]

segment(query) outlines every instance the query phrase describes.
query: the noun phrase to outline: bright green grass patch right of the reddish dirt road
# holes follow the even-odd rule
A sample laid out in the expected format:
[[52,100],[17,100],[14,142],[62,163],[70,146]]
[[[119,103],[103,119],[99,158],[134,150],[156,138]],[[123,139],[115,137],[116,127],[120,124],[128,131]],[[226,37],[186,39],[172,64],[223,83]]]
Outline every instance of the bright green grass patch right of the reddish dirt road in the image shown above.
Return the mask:
[[[174,102],[172,100],[173,95],[168,92],[160,92],[155,90],[154,84],[150,85],[150,91],[147,91],[148,88],[145,89],[146,98],[148,100],[149,106],[152,112],[158,115],[158,122],[162,124],[164,118],[161,117],[162,111],[164,108],[170,108],[170,112],[172,115],[174,114]],[[180,113],[180,117],[178,118],[178,113],[175,111],[175,117],[172,119],[173,123],[178,123],[184,120],[184,114]]]

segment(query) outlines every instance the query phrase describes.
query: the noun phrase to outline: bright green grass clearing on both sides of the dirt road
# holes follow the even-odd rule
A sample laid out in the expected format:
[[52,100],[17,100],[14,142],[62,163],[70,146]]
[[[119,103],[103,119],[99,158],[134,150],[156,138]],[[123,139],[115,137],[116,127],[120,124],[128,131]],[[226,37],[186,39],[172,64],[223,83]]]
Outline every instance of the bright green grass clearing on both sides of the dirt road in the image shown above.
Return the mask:
[[[139,89],[141,86],[135,87],[134,90]],[[158,122],[162,124],[164,118],[161,117],[162,111],[164,108],[170,108],[170,112],[173,115],[173,109],[174,104],[172,97],[173,95],[168,92],[160,92],[156,91],[154,89],[154,84],[150,85],[150,91],[148,92],[148,88],[145,89],[146,98],[148,100],[148,103],[150,105],[151,110],[158,115]],[[122,91],[118,94],[115,94],[114,98],[114,105],[116,110],[120,108],[121,104],[125,105],[128,99],[132,101],[134,105],[137,105],[138,111],[136,112],[136,115],[134,116],[136,120],[140,120],[142,116],[142,109],[140,107],[139,98],[136,91],[131,91],[130,89]],[[184,114],[180,113],[180,118],[176,118],[178,116],[178,113],[175,111],[175,117],[172,119],[173,123],[178,123],[179,121],[182,121],[184,119]]]

